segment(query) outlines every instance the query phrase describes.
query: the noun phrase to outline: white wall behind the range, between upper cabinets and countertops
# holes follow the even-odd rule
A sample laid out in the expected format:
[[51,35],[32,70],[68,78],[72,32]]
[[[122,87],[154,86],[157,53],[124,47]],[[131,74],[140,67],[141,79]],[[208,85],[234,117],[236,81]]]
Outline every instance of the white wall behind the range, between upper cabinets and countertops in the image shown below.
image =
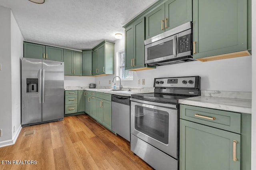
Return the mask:
[[[124,49],[124,38],[115,42],[115,54],[116,51],[122,51],[122,49]],[[246,56],[209,62],[192,61],[158,66],[156,69],[134,71],[133,81],[122,81],[122,85],[123,87],[153,87],[156,77],[199,75],[202,90],[252,91],[251,61],[252,57]],[[113,83],[108,84],[109,80],[112,82],[113,77],[114,75],[96,77],[96,85],[113,86]],[[138,85],[138,79],[140,79],[140,85]],[[145,85],[142,85],[142,79],[145,79]],[[119,81],[116,85],[119,86]]]

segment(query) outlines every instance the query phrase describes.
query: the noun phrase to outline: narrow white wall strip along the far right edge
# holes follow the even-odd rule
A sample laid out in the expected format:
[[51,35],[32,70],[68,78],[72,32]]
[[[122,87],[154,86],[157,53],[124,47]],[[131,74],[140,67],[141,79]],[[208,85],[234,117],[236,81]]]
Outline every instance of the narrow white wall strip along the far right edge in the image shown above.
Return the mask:
[[256,169],[256,1],[252,0],[252,170]]

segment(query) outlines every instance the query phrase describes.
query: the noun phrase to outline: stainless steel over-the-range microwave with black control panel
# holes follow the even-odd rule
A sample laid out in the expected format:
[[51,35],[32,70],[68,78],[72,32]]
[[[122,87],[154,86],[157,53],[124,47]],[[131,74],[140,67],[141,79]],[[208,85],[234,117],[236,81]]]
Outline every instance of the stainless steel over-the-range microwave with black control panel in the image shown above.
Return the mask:
[[194,61],[191,22],[145,40],[144,43],[145,64],[159,66]]

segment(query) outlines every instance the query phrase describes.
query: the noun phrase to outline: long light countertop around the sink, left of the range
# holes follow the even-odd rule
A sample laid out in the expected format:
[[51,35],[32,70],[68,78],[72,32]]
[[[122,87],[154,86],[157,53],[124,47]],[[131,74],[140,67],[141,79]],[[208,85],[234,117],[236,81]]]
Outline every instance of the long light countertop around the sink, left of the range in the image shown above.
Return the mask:
[[88,87],[65,87],[65,90],[88,90],[88,91],[98,91],[101,93],[108,93],[112,95],[120,95],[120,96],[128,96],[130,97],[132,94],[142,94],[142,93],[153,93],[154,88],[136,88],[136,87],[124,87],[123,91],[111,91],[110,87],[99,87],[88,88]]

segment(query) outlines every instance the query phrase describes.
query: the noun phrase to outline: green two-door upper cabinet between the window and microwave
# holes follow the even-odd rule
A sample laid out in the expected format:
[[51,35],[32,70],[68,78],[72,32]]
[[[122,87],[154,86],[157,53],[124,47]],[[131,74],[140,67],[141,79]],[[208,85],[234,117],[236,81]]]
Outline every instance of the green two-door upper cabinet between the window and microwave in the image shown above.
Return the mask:
[[144,18],[134,21],[125,29],[125,69],[139,71],[151,69],[145,65]]

